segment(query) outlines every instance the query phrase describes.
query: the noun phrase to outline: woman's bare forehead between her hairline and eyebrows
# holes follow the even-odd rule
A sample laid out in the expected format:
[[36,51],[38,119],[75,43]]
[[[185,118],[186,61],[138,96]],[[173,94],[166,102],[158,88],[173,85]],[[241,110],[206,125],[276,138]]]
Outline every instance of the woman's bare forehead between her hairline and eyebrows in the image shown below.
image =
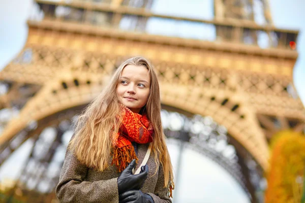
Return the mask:
[[150,81],[148,70],[142,65],[127,65],[121,72],[121,77]]

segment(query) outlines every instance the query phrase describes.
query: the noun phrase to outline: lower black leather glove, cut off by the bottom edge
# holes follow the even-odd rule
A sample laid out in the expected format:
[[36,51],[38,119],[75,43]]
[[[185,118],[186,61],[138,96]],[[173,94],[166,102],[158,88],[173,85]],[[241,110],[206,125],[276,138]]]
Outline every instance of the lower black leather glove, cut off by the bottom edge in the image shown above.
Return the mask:
[[119,203],[154,203],[153,197],[141,190],[128,190],[119,195]]

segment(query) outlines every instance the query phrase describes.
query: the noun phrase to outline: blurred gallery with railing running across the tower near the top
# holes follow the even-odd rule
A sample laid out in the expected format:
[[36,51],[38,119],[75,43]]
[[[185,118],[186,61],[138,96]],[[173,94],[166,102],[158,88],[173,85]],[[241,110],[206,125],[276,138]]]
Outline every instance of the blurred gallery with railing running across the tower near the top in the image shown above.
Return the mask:
[[[108,2],[108,3],[107,3]],[[54,20],[178,38],[233,42],[262,49],[296,50],[298,30],[249,20],[203,20],[155,14],[149,9],[114,6],[110,1],[36,0],[31,21]]]

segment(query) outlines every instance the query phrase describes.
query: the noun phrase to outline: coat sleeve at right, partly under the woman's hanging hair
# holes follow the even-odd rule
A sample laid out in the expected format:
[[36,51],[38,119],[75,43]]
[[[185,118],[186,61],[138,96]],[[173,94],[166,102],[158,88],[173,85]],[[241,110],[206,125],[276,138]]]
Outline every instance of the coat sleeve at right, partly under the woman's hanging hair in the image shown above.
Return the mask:
[[168,187],[164,187],[164,172],[160,165],[158,181],[154,193],[147,193],[153,197],[155,203],[171,203],[171,198],[168,196]]

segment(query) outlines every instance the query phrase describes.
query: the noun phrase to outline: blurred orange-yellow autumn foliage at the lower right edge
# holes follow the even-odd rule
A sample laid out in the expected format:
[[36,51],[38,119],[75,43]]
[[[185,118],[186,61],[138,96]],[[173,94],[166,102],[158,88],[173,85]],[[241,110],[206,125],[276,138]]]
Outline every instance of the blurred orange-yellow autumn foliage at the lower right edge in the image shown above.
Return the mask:
[[300,202],[305,165],[305,137],[281,131],[271,141],[265,203]]

